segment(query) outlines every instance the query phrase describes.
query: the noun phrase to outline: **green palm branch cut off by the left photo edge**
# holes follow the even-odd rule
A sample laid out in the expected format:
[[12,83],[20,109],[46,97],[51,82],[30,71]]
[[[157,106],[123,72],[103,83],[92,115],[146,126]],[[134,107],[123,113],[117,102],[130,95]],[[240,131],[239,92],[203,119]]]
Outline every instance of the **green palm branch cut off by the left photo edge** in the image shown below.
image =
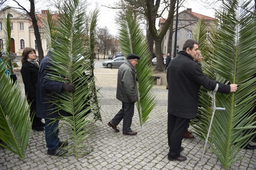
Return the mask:
[[31,121],[29,105],[22,98],[21,89],[5,75],[5,65],[0,63],[0,146],[17,154],[24,160],[28,146]]

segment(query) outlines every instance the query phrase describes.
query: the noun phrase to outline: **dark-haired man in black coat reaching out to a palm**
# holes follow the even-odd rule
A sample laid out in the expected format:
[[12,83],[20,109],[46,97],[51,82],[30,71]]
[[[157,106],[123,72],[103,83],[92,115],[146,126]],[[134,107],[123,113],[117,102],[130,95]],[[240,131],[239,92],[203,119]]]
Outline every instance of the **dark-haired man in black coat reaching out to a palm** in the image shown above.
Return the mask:
[[189,39],[167,68],[166,78],[169,85],[167,134],[170,147],[168,160],[187,160],[186,157],[180,155],[180,151],[184,149],[181,141],[190,119],[197,115],[200,86],[213,91],[218,83],[220,93],[233,93],[237,89],[236,84],[225,85],[210,80],[193,60],[197,53],[198,43]]

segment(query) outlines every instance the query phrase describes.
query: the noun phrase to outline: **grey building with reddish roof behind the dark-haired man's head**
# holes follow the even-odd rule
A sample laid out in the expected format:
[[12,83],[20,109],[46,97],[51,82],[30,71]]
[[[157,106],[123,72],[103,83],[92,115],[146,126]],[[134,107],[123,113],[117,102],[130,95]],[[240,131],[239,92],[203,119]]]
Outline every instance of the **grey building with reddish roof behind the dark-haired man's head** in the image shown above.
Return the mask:
[[[215,18],[201,15],[199,13],[192,12],[191,8],[187,8],[187,10],[184,10],[180,13],[178,13],[178,32],[177,32],[177,48],[174,49],[174,39],[175,39],[175,31],[173,31],[172,35],[172,51],[170,52],[171,56],[173,55],[173,50],[176,50],[176,55],[178,54],[178,51],[182,50],[183,44],[187,39],[192,38],[192,30],[194,29],[195,25],[197,24],[199,19],[205,19],[206,24],[210,26],[210,24],[213,24],[213,21],[216,20]],[[159,20],[159,30],[162,29],[166,19],[160,19]],[[173,19],[173,29],[175,29],[176,25],[176,15]],[[162,41],[162,52],[164,55],[166,55],[169,52],[168,49],[168,39],[169,39],[170,30],[166,32],[165,37]],[[206,32],[206,34],[209,34],[209,32]]]

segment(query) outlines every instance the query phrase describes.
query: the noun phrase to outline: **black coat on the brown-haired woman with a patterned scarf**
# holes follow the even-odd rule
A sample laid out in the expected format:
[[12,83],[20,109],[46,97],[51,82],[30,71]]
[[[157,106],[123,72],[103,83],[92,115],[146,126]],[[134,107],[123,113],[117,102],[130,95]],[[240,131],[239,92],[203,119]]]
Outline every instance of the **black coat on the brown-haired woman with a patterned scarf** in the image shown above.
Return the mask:
[[28,61],[26,61],[21,67],[20,73],[25,86],[25,94],[27,95],[27,99],[36,97],[38,71],[39,68]]

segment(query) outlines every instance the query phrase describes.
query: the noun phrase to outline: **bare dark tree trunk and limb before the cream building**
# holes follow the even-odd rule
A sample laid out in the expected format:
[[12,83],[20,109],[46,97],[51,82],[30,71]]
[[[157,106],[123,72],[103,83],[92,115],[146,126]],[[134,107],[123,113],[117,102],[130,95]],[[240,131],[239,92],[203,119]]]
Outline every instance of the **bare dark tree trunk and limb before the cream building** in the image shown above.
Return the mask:
[[[6,9],[14,8],[14,9],[22,10],[26,15],[28,15],[31,18],[32,25],[33,25],[33,28],[34,28],[35,40],[36,40],[36,44],[37,44],[37,48],[38,48],[38,57],[39,57],[39,61],[41,62],[41,60],[44,58],[44,51],[43,51],[43,48],[42,48],[41,35],[40,35],[39,27],[38,27],[38,24],[37,24],[38,18],[37,18],[36,13],[35,13],[35,1],[34,0],[29,0],[30,10],[27,10],[25,7],[23,7],[16,0],[11,0],[11,1],[13,1],[16,4],[16,6],[7,7]],[[0,1],[0,6],[4,5],[5,3],[7,3],[7,0]]]

